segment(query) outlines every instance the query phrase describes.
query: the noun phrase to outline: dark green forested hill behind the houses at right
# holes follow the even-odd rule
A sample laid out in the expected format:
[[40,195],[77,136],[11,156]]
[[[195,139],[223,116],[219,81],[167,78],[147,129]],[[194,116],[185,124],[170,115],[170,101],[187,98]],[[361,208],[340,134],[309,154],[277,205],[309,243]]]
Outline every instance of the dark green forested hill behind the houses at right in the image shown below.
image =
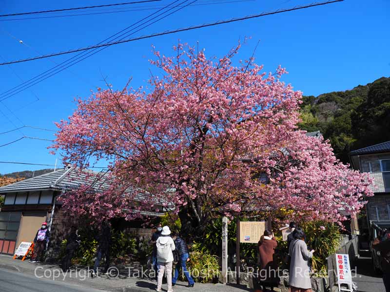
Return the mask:
[[301,129],[321,130],[337,158],[348,152],[390,140],[390,77],[352,90],[304,96]]

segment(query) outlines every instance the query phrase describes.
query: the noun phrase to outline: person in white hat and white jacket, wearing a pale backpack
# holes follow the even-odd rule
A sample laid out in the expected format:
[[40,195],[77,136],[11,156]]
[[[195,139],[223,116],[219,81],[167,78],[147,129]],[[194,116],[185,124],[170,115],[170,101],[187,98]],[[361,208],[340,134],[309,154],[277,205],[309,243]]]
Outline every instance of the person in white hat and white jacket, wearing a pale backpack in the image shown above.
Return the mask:
[[161,291],[162,277],[164,271],[166,270],[167,276],[167,285],[168,292],[173,292],[172,290],[172,263],[174,261],[174,255],[172,251],[175,250],[175,242],[170,237],[171,230],[168,226],[162,227],[161,236],[157,238],[156,248],[157,248],[157,289],[156,291]]

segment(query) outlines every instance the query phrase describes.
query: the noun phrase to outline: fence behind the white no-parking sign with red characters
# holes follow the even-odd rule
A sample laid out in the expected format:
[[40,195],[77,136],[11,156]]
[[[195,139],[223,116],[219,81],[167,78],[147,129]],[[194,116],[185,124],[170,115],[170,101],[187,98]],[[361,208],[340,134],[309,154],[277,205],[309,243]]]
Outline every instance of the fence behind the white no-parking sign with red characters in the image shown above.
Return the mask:
[[[347,243],[342,245],[337,251],[336,254],[345,254],[350,257],[351,267],[355,266],[357,256],[359,255],[358,249],[358,237],[352,235],[352,239]],[[332,254],[327,257],[328,262],[328,277],[329,277],[329,287],[330,291],[332,291],[332,287],[337,284],[337,274],[336,274],[336,256]]]

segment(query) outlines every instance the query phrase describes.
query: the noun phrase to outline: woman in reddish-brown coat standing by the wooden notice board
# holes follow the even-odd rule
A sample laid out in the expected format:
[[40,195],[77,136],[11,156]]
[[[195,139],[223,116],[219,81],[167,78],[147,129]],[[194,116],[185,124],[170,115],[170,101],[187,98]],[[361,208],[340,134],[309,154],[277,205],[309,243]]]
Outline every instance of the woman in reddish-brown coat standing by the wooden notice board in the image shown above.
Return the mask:
[[273,261],[276,246],[277,242],[275,237],[273,237],[273,233],[265,230],[264,235],[260,237],[258,242],[260,257],[259,281],[263,291],[265,291],[266,287],[270,287],[272,291],[273,287],[277,287],[279,282],[277,265]]

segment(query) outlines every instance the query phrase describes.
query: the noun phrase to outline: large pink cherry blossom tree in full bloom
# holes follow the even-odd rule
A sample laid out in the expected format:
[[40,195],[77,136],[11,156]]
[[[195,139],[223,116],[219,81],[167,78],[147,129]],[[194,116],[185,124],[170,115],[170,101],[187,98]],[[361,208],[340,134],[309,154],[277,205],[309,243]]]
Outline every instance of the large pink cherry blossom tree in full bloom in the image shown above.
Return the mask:
[[162,205],[178,213],[183,232],[199,235],[217,214],[288,209],[292,218],[339,222],[340,209],[359,212],[372,195],[368,178],[297,129],[301,92],[279,80],[286,71],[264,73],[253,58],[234,66],[239,48],[219,59],[183,44],[172,57],[154,50],[163,76],[146,88],[78,99],[57,124],[54,150],[80,169],[110,161],[109,188],[70,192],[65,210],[133,219]]

